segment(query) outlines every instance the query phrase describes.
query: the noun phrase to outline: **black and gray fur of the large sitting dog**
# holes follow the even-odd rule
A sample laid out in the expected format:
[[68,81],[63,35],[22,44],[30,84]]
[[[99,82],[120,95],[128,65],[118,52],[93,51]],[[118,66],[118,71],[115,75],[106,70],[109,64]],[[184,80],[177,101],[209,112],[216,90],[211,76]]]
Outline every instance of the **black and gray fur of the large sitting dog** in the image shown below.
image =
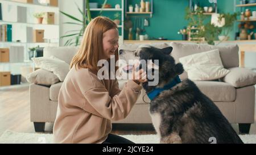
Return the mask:
[[[135,51],[139,60],[159,60],[159,84],[148,86],[146,92],[163,87],[184,72],[175,64],[172,48],[142,47]],[[150,114],[160,143],[243,143],[218,107],[189,79],[165,90],[151,100]]]

